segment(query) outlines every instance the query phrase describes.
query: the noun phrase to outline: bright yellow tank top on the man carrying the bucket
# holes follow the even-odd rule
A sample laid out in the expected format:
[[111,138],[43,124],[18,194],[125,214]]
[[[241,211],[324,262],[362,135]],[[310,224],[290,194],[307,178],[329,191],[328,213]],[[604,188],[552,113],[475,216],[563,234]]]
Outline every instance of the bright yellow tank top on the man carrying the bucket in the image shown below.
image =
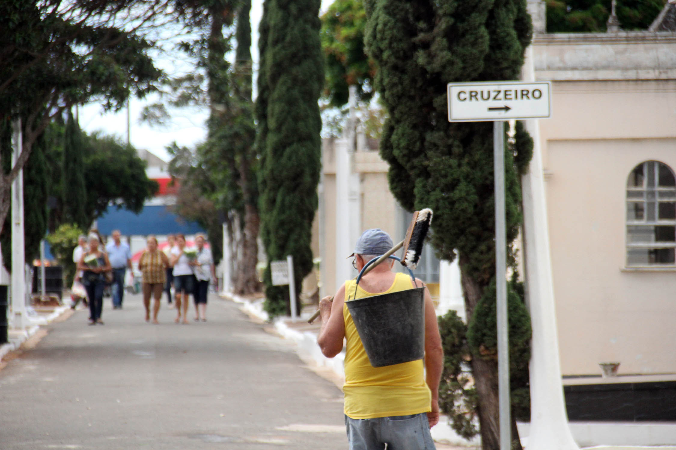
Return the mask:
[[[408,416],[431,411],[431,393],[423,374],[423,360],[373,367],[347,309],[348,298],[354,300],[356,281],[345,282],[345,415],[353,419]],[[412,289],[410,277],[397,273],[394,283],[385,292],[370,293],[357,287],[356,298]]]

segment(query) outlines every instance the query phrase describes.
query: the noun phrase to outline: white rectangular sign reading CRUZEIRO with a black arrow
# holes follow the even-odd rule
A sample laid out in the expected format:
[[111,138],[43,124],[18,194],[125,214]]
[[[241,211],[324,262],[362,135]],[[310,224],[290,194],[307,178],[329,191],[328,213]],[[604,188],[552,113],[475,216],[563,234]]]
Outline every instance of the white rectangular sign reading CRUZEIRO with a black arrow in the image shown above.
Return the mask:
[[482,122],[550,117],[551,82],[448,84],[448,121]]

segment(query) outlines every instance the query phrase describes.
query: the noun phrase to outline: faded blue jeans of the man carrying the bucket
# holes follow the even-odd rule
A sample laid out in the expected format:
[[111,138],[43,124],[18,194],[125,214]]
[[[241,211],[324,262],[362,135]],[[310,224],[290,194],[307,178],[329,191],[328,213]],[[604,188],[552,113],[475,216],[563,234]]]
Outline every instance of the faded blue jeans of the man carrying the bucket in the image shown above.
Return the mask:
[[350,450],[434,450],[427,414],[352,419],[345,416]]

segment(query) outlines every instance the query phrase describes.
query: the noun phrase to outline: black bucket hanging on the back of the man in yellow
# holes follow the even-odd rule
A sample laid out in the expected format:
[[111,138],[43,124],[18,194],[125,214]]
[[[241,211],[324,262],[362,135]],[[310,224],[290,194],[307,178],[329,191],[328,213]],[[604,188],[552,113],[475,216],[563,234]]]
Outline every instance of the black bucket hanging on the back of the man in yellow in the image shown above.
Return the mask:
[[425,287],[345,302],[373,367],[425,356]]

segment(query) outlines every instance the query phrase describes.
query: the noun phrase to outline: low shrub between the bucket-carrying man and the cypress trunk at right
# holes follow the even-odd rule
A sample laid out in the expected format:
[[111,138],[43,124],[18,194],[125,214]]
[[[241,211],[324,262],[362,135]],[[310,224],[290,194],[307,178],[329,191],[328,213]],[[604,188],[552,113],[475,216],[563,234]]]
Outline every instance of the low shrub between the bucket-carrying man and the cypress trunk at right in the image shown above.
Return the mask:
[[441,345],[443,346],[443,370],[439,383],[439,408],[449,419],[450,426],[464,439],[477,435],[477,390],[472,384],[468,361],[467,327],[454,310],[437,318]]

